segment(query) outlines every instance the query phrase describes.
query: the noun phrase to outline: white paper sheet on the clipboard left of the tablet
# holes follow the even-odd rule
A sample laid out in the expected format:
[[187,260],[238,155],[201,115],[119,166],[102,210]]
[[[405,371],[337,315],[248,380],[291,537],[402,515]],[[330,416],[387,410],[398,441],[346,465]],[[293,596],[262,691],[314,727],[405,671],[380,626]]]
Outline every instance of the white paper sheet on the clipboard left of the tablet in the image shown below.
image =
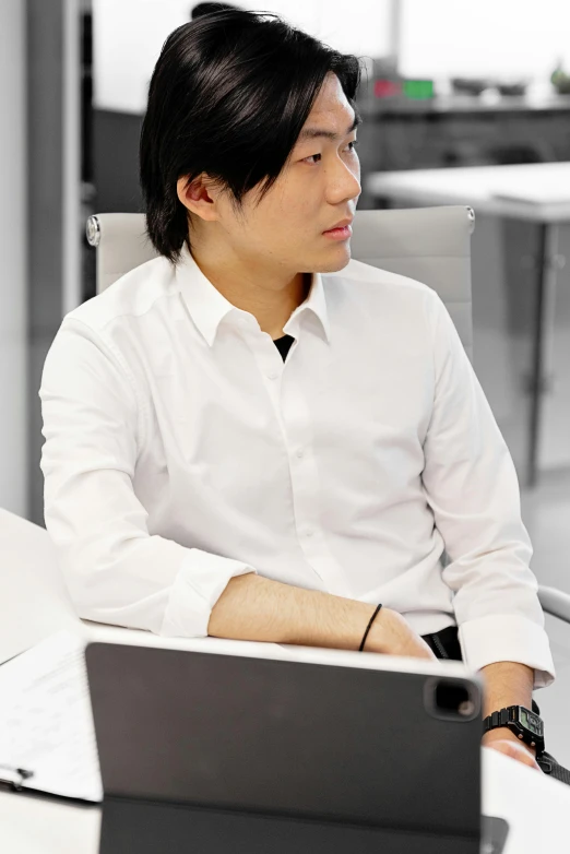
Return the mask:
[[58,631],[0,667],[0,778],[25,768],[24,788],[103,800],[84,649]]

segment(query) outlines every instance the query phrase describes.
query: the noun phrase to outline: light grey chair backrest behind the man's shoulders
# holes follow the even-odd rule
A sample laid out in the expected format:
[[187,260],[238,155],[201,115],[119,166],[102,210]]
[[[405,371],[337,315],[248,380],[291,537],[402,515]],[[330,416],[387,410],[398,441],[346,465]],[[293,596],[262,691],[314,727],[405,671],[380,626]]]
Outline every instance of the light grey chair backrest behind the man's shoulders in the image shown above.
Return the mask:
[[[473,360],[471,235],[475,215],[464,205],[356,211],[352,257],[434,288],[444,303]],[[97,247],[97,293],[156,257],[145,236],[144,214],[106,213],[87,221]]]

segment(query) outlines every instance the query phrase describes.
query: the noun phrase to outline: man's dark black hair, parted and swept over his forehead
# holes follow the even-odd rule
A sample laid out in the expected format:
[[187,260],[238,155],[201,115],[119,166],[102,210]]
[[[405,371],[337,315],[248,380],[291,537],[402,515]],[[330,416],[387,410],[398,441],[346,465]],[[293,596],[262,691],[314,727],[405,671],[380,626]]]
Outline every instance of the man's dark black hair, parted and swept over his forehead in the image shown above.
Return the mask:
[[[269,19],[269,20],[268,20]],[[176,263],[191,248],[177,181],[206,173],[239,214],[274,185],[329,72],[355,105],[360,60],[323,45],[271,12],[218,11],[177,27],[149,87],[140,140],[146,234]]]

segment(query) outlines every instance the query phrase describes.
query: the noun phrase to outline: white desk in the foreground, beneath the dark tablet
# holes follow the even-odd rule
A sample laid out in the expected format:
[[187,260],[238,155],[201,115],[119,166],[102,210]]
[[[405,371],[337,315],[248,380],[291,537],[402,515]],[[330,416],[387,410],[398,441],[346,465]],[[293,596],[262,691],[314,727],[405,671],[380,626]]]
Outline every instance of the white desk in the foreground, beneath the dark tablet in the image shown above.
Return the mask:
[[[0,662],[60,628],[83,637],[195,649],[203,640],[161,638],[78,620],[59,576],[47,532],[0,509]],[[136,640],[134,640],[136,638]],[[244,642],[207,639],[221,651]],[[277,644],[263,644],[268,656],[282,657]],[[258,647],[253,644],[253,647]],[[293,648],[287,648],[294,653]],[[314,651],[313,651],[314,652]],[[331,651],[322,650],[326,654]],[[256,653],[251,653],[256,654]],[[430,667],[430,662],[399,659],[399,669]],[[464,673],[460,662],[442,667]],[[448,669],[451,674],[451,669]],[[570,786],[526,768],[491,748],[482,748],[483,811],[501,816],[511,831],[504,854],[554,854],[567,832]],[[529,805],[532,804],[532,809]],[[97,854],[98,805],[75,805],[34,794],[0,792],[0,840],[7,854]]]

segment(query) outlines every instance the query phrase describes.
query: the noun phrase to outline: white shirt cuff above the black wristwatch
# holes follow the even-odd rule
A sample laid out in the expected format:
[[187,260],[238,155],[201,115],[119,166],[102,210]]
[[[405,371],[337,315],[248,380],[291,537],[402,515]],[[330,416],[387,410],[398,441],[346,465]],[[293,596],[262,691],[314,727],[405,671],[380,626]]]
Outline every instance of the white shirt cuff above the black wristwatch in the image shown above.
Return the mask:
[[492,614],[459,627],[463,661],[473,671],[510,661],[534,668],[534,686],[548,688],[556,679],[548,636],[542,626],[516,614]]

